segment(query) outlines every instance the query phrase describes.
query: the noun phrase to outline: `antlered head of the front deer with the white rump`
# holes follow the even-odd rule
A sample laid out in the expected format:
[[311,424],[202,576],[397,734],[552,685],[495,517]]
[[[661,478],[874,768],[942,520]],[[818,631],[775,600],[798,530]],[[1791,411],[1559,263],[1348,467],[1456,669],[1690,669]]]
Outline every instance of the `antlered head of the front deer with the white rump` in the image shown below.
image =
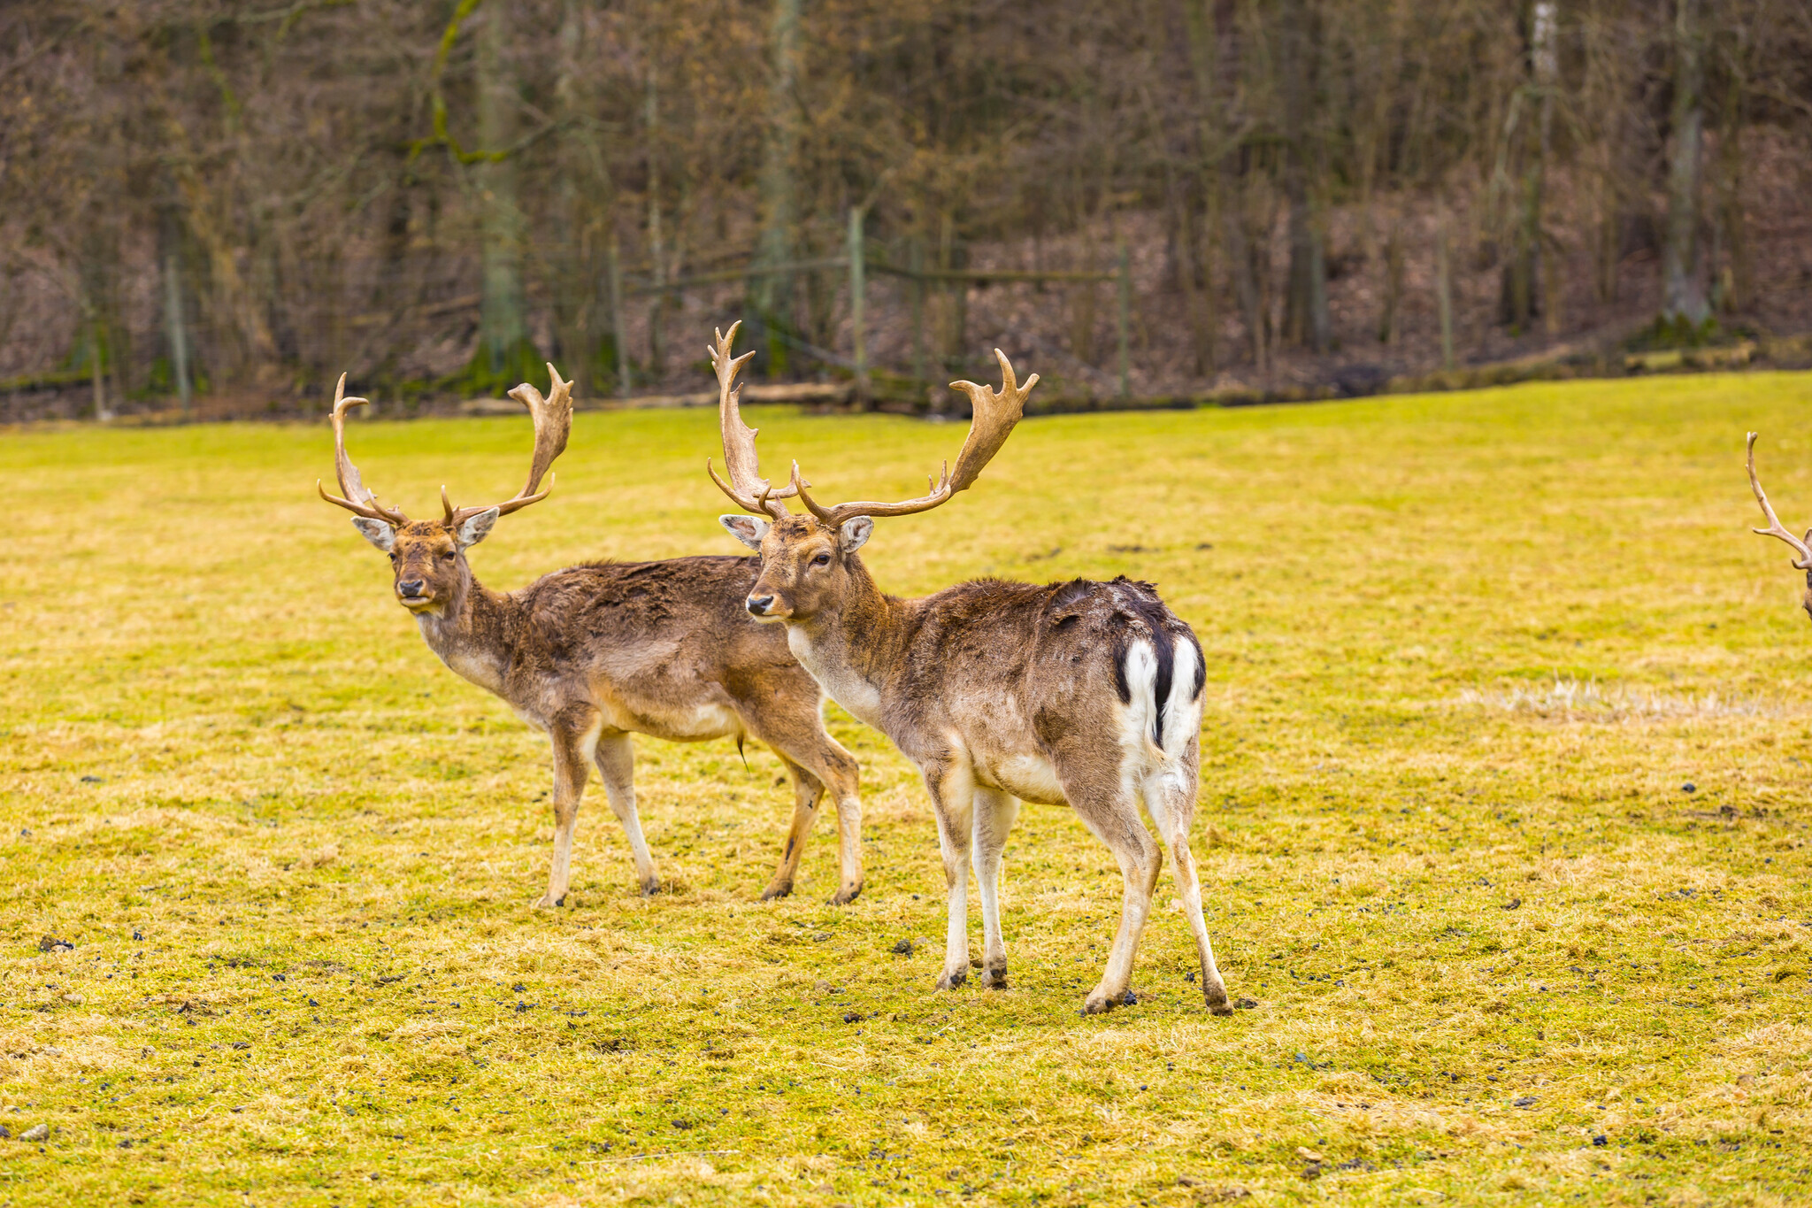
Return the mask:
[[[951,382],[951,389],[969,395],[973,418],[969,435],[957,453],[957,469],[944,464],[939,478],[928,480],[928,493],[915,500],[897,503],[853,502],[821,505],[810,496],[812,484],[801,478],[799,462],[794,462],[792,480],[774,489],[761,476],[756,458],[756,429],[743,424],[737,407],[739,389],[734,388],[736,371],[754,353],[730,359],[730,346],[736,340],[736,328],[730,333],[716,331],[716,344],[710,348],[710,362],[718,369],[718,418],[723,429],[723,462],[730,473],[725,482],[705,462],[710,480],[730,496],[748,516],[719,516],[725,529],[737,542],[761,554],[761,576],[748,592],[748,612],[763,621],[805,619],[817,612],[823,603],[841,594],[843,580],[850,569],[850,558],[868,542],[875,527],[875,516],[910,516],[926,513],[946,503],[957,491],[966,491],[982,467],[1006,444],[1013,426],[1026,415],[1026,395],[1038,384],[1033,373],[1020,386],[1013,377],[1013,364],[998,348],[1000,389],[977,386],[975,382]],[[795,516],[786,511],[781,500],[797,498],[810,514]]]

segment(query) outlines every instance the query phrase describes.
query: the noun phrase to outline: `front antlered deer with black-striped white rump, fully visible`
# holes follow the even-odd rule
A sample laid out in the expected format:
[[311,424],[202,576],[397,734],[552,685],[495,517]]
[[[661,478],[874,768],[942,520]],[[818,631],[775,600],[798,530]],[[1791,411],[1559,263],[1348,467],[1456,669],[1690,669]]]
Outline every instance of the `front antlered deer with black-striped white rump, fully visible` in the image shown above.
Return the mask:
[[[1024,417],[1033,373],[1018,386],[1006,353],[1002,388],[951,382],[971,404],[955,471],[913,500],[824,507],[794,462],[792,480],[761,476],[756,429],[741,418],[737,368],[716,331],[718,411],[725,473],[705,469],[741,513],[719,516],[761,556],[745,607],[786,630],[786,645],[824,692],[881,730],[924,777],[937,817],[948,889],[948,931],[939,991],[969,971],[968,891],[973,862],[982,906],[980,983],[1007,983],[998,882],[1006,840],[1022,801],[1067,804],[1120,864],[1120,927],[1084,1012],[1136,1002],[1132,954],[1163,862],[1140,819],[1140,802],[1171,849],[1183,911],[1196,940],[1201,991],[1214,1014],[1232,1014],[1214,964],[1201,884],[1189,849],[1196,811],[1200,728],[1207,665],[1194,630],[1151,583],[1006,583],[975,580],[931,596],[884,594],[857,551],[877,518],[948,503],[975,484]],[[785,500],[797,500],[795,514]]]

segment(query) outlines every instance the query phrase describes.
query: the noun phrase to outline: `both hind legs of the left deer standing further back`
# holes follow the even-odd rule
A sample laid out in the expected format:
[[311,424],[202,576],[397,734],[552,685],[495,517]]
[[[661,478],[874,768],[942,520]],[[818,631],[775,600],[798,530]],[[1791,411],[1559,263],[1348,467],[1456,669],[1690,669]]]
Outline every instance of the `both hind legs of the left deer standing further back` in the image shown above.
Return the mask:
[[[803,676],[803,672],[801,672]],[[837,739],[824,732],[824,719],[819,715],[819,688],[806,681],[801,685],[772,685],[770,692],[752,694],[737,701],[737,712],[752,735],[774,748],[794,773],[795,788],[801,784],[801,770],[815,777],[823,790],[830,791],[837,802],[837,864],[841,869],[837,893],[830,898],[835,906],[855,900],[863,891],[863,799],[861,764],[855,755],[843,750]],[[757,701],[761,703],[757,708]],[[779,703],[779,706],[776,705]],[[801,790],[803,791],[803,790]],[[805,801],[803,797],[799,799]],[[817,819],[817,801],[812,808],[794,808],[792,831],[786,837],[786,855],[781,857],[781,871],[774,873],[774,882],[761,896],[779,896],[792,891],[794,869],[805,851],[805,840],[812,833]],[[785,889],[776,893],[783,884]]]

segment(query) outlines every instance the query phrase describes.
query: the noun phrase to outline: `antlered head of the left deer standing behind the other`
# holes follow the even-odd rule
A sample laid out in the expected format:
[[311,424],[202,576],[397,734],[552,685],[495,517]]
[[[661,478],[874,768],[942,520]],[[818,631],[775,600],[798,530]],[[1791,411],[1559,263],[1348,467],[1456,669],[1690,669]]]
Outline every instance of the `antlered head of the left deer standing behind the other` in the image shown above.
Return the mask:
[[[553,395],[524,382],[509,397],[529,409],[535,420],[535,455],[529,462],[529,482],[515,498],[487,507],[453,507],[448,489],[440,487],[440,520],[410,520],[395,507],[384,507],[364,485],[359,467],[346,456],[346,413],[362,407],[364,398],[346,397],[346,375],[341,373],[333,389],[333,471],[342,494],[328,494],[319,482],[315,489],[328,503],[339,503],[353,513],[352,523],[371,545],[390,554],[395,569],[397,601],[415,614],[440,614],[471,585],[471,567],[466,551],[482,542],[498,516],[507,516],[529,503],[545,500],[553,491],[547,467],[565,449],[573,429],[573,384],[560,380],[551,364]],[[536,491],[547,478],[547,491]]]

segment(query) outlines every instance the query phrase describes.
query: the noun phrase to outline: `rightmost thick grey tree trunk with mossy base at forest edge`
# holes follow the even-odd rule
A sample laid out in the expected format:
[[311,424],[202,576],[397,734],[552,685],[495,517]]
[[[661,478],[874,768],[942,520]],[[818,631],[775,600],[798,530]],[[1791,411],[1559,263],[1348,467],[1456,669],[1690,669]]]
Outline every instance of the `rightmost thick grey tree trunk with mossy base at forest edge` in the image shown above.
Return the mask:
[[1674,110],[1667,158],[1662,322],[1698,331],[1711,308],[1700,281],[1700,150],[1705,130],[1705,34],[1700,0],[1674,0]]

